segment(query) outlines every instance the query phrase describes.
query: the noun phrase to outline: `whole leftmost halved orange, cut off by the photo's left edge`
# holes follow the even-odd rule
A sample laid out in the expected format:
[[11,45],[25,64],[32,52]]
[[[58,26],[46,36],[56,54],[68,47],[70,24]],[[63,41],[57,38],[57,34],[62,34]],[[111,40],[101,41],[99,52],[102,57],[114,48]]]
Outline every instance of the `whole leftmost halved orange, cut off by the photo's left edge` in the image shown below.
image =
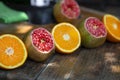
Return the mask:
[[27,50],[18,37],[11,34],[0,36],[0,67],[14,69],[27,59]]

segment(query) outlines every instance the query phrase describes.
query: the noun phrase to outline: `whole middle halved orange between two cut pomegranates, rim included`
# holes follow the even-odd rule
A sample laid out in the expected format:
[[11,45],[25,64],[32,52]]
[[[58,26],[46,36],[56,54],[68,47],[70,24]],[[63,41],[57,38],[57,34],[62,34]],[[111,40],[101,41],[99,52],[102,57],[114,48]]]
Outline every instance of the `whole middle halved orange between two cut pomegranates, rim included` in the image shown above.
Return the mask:
[[52,29],[56,48],[61,53],[72,53],[81,44],[79,31],[70,23],[59,23]]

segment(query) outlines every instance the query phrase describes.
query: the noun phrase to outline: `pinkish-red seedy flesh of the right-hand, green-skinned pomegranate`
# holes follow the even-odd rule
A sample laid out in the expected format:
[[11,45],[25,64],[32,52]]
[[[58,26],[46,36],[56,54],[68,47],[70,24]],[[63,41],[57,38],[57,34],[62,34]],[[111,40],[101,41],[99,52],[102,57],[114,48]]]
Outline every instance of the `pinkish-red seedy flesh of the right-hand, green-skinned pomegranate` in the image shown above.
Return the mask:
[[86,30],[96,38],[105,37],[107,35],[104,24],[95,17],[89,17],[84,25]]

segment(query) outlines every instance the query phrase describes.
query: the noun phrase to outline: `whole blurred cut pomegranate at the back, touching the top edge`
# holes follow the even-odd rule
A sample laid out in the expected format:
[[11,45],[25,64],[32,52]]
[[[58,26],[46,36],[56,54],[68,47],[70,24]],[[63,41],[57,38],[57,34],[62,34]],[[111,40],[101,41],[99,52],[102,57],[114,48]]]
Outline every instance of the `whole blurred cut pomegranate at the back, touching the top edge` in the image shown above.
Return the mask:
[[54,16],[58,22],[72,22],[80,16],[80,7],[75,0],[60,0],[54,6]]

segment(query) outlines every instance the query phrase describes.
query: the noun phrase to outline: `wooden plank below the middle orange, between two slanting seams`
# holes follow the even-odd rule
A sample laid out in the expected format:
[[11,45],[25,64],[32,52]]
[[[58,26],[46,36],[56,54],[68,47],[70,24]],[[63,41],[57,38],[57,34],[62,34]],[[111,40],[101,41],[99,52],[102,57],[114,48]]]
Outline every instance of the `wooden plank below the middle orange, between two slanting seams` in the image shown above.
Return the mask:
[[66,80],[71,74],[80,49],[70,55],[55,53],[55,57],[41,72],[37,80]]

